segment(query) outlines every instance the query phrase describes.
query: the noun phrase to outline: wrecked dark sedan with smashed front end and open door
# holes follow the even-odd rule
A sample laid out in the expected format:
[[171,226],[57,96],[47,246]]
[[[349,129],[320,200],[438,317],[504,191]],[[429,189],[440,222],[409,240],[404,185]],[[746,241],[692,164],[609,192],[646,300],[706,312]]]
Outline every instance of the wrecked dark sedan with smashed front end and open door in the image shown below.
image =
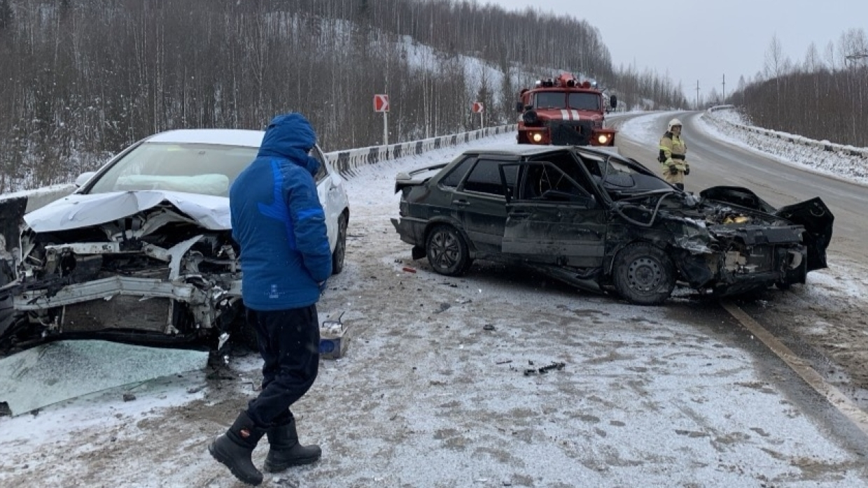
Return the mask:
[[400,173],[391,222],[446,276],[475,259],[523,264],[584,290],[663,303],[676,284],[734,295],[825,268],[832,212],[779,209],[742,187],[681,192],[635,159],[578,146],[496,146]]

